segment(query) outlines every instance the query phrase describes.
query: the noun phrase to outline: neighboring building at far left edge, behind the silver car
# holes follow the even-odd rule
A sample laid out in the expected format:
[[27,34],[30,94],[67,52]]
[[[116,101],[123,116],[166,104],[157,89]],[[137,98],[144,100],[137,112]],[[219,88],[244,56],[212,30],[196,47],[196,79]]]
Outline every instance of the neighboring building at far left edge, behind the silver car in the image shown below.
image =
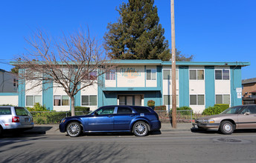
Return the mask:
[[18,105],[18,77],[0,69],[0,104]]

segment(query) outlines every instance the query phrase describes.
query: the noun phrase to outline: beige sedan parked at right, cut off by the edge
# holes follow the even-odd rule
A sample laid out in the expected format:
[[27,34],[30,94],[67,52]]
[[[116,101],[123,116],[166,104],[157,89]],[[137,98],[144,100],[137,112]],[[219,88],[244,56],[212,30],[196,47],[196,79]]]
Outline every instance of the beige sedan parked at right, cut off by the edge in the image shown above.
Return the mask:
[[202,129],[217,129],[224,134],[237,129],[256,129],[256,105],[229,107],[218,115],[196,119],[196,125]]

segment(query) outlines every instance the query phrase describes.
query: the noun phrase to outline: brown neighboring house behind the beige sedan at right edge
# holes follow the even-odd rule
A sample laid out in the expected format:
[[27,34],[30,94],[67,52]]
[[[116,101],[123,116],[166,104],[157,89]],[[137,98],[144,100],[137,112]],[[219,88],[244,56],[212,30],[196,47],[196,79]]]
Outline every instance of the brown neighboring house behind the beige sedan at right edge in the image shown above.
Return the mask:
[[243,85],[243,104],[256,104],[256,78],[245,79]]

